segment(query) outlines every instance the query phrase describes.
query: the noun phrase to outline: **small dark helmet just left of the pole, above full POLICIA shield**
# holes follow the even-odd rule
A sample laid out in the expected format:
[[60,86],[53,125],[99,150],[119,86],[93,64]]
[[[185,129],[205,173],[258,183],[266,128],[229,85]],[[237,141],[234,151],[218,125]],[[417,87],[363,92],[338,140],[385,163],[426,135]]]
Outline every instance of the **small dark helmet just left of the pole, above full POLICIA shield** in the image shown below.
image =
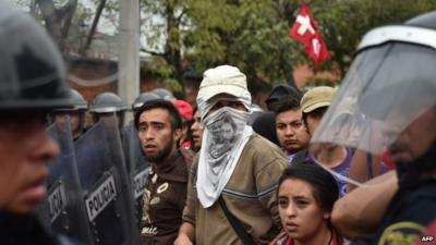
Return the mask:
[[128,107],[121,100],[121,98],[110,91],[101,93],[93,100],[89,107],[92,113],[108,113],[125,111]]

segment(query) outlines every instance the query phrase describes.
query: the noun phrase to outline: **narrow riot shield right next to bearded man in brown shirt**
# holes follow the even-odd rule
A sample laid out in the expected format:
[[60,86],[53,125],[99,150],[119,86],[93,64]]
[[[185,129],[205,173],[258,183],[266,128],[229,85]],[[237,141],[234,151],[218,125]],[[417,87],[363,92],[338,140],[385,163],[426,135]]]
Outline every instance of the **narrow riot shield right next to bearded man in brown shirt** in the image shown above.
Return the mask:
[[135,198],[134,216],[136,224],[142,225],[142,198],[145,191],[145,182],[148,176],[149,162],[142,151],[137,130],[133,122],[123,128],[121,134],[124,149],[124,157],[128,163],[128,172],[133,187]]

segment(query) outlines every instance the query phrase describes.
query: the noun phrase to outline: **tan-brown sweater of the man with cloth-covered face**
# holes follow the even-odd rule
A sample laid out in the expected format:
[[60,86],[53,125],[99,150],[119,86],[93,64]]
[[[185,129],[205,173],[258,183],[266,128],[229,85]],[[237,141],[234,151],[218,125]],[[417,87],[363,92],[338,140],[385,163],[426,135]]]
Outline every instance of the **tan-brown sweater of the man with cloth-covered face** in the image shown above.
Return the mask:
[[[218,201],[205,209],[196,194],[198,158],[193,162],[183,221],[195,226],[196,245],[242,244]],[[287,167],[281,150],[254,134],[245,145],[234,172],[221,193],[230,212],[237,217],[257,244],[268,244],[279,232],[276,188]]]

